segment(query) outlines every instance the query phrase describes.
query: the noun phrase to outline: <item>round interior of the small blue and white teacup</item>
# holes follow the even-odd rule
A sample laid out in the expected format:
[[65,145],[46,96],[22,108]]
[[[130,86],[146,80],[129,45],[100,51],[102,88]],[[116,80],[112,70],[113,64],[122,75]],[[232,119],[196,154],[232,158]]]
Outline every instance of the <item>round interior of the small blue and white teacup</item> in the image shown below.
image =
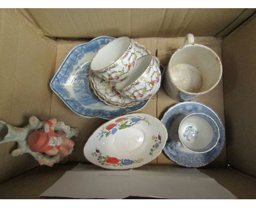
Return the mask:
[[219,128],[216,122],[206,114],[193,113],[179,124],[179,139],[190,151],[208,152],[219,140]]

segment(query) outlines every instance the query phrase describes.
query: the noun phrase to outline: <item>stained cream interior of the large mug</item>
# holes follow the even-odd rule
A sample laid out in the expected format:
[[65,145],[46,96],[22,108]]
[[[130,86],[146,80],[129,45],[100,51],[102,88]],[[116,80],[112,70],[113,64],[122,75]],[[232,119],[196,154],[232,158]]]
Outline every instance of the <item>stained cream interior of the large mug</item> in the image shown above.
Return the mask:
[[222,63],[211,48],[199,44],[187,45],[173,54],[168,72],[178,89],[200,94],[218,84],[222,76]]

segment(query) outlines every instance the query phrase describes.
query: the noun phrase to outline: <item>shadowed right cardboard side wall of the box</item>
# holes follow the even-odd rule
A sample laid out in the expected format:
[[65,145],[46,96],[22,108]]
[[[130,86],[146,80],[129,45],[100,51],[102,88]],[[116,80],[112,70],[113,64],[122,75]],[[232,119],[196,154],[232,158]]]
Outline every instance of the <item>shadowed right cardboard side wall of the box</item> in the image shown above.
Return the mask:
[[256,176],[256,18],[222,44],[227,154],[229,164]]

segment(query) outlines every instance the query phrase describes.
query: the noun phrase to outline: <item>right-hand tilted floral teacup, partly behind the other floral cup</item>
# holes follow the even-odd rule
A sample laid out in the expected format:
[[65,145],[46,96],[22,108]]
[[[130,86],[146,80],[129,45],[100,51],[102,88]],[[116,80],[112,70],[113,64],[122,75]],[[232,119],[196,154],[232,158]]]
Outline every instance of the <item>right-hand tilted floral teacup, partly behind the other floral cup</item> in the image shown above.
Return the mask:
[[115,89],[133,100],[146,100],[160,88],[161,72],[158,58],[148,54],[137,59],[132,73],[123,82],[117,83]]

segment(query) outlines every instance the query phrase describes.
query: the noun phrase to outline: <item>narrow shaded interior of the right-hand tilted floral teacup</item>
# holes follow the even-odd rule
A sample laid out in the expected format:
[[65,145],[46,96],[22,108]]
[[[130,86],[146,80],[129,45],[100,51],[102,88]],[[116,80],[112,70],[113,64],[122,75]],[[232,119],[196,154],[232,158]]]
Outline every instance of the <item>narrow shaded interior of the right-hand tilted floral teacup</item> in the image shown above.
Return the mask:
[[129,77],[127,77],[124,81],[117,83],[117,85],[115,85],[115,89],[124,89],[135,82],[148,69],[151,60],[152,56],[149,54],[137,59],[136,65],[134,66]]

